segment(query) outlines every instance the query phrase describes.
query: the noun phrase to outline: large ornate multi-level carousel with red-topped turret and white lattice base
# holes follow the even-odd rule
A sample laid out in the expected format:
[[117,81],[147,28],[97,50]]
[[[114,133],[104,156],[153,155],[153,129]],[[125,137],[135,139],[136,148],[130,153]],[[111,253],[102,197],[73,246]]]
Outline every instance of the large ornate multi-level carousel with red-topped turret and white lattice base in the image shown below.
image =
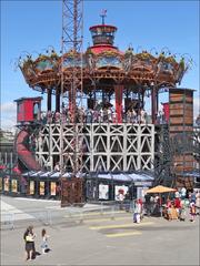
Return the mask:
[[90,32],[93,45],[86,52],[72,47],[63,57],[52,50],[20,62],[29,86],[47,93],[47,123],[36,136],[37,162],[51,170],[63,164],[69,172],[74,163],[81,172],[150,170],[159,93],[176,88],[188,66],[164,52],[120,51],[114,47],[117,28],[104,24],[104,16]]

